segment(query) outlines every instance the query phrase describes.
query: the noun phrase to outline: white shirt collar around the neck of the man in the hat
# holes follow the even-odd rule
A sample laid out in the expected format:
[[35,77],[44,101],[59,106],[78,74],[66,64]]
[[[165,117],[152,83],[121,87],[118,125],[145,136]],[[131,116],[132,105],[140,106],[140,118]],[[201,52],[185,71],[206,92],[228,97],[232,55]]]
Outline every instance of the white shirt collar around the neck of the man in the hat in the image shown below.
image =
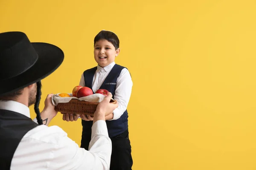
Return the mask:
[[0,109],[14,111],[30,118],[30,111],[26,105],[13,100],[0,101]]

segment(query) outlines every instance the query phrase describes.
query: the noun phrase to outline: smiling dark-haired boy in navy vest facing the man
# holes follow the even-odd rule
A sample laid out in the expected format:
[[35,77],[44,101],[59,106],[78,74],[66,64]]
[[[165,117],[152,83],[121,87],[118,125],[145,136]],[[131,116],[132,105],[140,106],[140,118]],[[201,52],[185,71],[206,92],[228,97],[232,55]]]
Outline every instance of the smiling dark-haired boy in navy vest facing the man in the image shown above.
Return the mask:
[[[98,65],[84,71],[79,85],[91,88],[94,93],[98,89],[106,89],[113,94],[113,99],[118,101],[118,108],[106,116],[108,135],[112,141],[110,169],[131,170],[133,160],[126,108],[133,82],[128,69],[114,62],[119,52],[119,39],[116,34],[111,31],[100,31],[94,38],[94,59]],[[63,119],[69,121],[69,117],[65,115]],[[74,120],[73,117],[70,119]],[[91,139],[92,120],[91,116],[82,117],[81,147],[86,150],[88,150]]]

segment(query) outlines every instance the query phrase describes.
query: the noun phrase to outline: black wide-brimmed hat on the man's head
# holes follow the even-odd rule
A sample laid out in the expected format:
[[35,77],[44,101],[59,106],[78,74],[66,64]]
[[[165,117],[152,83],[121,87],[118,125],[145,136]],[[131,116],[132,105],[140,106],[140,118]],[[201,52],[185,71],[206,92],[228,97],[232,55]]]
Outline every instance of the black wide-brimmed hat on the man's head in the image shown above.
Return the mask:
[[23,32],[0,33],[0,96],[44,79],[63,60],[55,45],[30,42]]

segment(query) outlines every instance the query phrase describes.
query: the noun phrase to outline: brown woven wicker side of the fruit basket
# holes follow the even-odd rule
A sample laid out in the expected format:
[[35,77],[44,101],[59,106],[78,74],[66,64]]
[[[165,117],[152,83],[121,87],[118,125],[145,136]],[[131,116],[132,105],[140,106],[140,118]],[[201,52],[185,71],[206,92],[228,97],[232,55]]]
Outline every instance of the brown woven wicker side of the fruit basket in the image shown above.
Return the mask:
[[[111,99],[110,103],[115,104],[116,101]],[[71,99],[67,103],[58,103],[58,105],[55,106],[55,111],[61,112],[62,114],[70,113],[70,114],[85,114],[85,115],[93,116],[98,105],[99,103]]]

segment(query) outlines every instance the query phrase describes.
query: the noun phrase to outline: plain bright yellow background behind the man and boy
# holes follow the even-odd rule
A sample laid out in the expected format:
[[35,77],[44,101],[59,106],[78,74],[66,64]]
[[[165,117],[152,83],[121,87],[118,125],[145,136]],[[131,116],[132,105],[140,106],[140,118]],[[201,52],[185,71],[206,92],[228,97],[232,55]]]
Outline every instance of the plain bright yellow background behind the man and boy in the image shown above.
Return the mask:
[[[134,82],[134,170],[256,169],[255,0],[0,0],[0,32],[24,31],[65,53],[42,99],[70,93],[96,66],[102,29],[119,36],[116,63]],[[81,120],[59,113],[50,125],[80,145]]]

